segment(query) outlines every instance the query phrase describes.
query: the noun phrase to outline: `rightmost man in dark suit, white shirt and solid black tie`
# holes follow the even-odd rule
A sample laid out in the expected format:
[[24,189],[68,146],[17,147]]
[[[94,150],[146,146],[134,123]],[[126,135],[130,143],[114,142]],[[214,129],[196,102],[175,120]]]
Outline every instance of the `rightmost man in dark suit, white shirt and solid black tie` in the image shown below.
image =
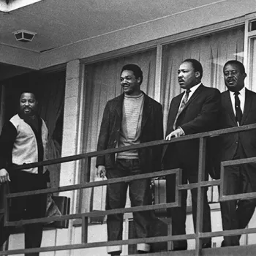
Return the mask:
[[[244,87],[244,65],[236,60],[227,61],[223,68],[227,91],[222,93],[221,128],[256,123],[256,94]],[[256,156],[256,131],[232,133],[220,138],[221,160]],[[224,171],[224,195],[256,191],[254,163],[228,166]],[[255,200],[221,202],[223,230],[241,229],[248,225],[255,211]],[[239,245],[240,236],[227,236],[222,246]]]

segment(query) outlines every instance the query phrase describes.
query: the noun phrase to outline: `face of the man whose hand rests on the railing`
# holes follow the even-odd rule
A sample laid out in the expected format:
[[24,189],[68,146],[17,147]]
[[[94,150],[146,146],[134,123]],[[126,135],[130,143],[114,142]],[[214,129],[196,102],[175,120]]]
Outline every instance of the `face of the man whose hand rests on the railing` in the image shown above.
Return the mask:
[[200,72],[195,69],[190,62],[183,62],[178,68],[178,83],[182,89],[190,89],[198,83]]

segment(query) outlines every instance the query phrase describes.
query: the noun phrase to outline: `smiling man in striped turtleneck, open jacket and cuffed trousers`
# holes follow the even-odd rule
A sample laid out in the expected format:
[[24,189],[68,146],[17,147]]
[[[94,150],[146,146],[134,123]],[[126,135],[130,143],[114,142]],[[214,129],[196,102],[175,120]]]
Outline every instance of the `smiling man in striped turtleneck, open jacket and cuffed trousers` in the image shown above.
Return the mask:
[[[152,140],[162,140],[162,105],[151,99],[140,85],[143,72],[135,64],[121,69],[121,87],[124,94],[108,101],[102,118],[97,151],[107,148],[132,146]],[[97,176],[121,178],[160,170],[161,151],[159,148],[140,148],[118,154],[97,157]],[[150,180],[143,179],[118,184],[109,184],[107,189],[107,209],[124,208],[129,186],[132,206],[151,204]],[[108,215],[108,241],[121,240],[123,215]],[[136,238],[150,236],[151,211],[134,212]],[[149,252],[149,244],[137,244],[139,253]],[[120,255],[121,246],[108,246],[110,255]]]

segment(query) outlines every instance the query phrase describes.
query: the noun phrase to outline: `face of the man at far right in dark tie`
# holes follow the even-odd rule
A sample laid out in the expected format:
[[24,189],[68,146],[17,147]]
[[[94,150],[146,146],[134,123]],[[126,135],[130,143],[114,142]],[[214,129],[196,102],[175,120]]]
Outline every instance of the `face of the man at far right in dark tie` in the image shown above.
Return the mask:
[[227,89],[230,91],[240,91],[243,89],[246,73],[241,73],[238,65],[227,64],[223,69],[223,73]]

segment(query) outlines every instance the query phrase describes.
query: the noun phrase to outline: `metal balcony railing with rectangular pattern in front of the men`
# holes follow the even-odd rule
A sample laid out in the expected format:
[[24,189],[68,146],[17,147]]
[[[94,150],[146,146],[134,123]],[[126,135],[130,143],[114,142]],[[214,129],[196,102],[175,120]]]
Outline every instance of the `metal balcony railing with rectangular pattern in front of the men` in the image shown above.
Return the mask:
[[[85,181],[80,184],[75,184],[71,186],[64,186],[64,187],[57,187],[57,188],[49,188],[49,189],[40,189],[36,191],[29,191],[29,192],[20,192],[20,193],[12,193],[8,194],[5,200],[5,212],[4,212],[4,222],[6,226],[20,226],[25,224],[37,223],[37,222],[53,222],[53,221],[60,221],[64,219],[81,219],[82,220],[82,234],[81,234],[81,244],[67,244],[61,246],[44,246],[41,248],[33,248],[33,249],[12,249],[4,252],[0,252],[0,255],[17,255],[21,253],[29,253],[29,252],[51,252],[51,251],[60,251],[60,250],[70,250],[70,249],[86,249],[91,247],[99,247],[99,246],[113,246],[113,245],[125,245],[125,244],[139,244],[139,243],[157,243],[157,242],[167,242],[167,241],[177,241],[177,240],[184,240],[184,239],[195,239],[195,250],[193,252],[182,252],[182,255],[209,255],[205,254],[209,253],[211,249],[202,249],[202,238],[206,237],[217,237],[217,236],[234,236],[238,234],[246,234],[246,233],[256,233],[256,228],[249,228],[249,229],[242,229],[242,230],[226,230],[226,231],[218,231],[218,232],[211,232],[211,233],[203,233],[203,189],[205,187],[213,187],[213,186],[220,186],[220,198],[219,200],[238,200],[244,198],[256,198],[256,192],[246,193],[241,195],[223,195],[223,172],[224,168],[227,165],[238,165],[238,164],[245,164],[249,162],[256,162],[256,157],[252,157],[249,159],[238,159],[232,161],[226,161],[221,163],[221,179],[214,180],[214,181],[204,181],[205,177],[205,159],[206,159],[206,140],[210,137],[215,137],[219,135],[226,135],[233,132],[243,132],[256,129],[256,124],[249,124],[243,127],[233,127],[228,129],[219,129],[217,131],[211,132],[203,132],[198,133],[195,135],[187,135],[181,138],[173,138],[170,141],[167,140],[157,140],[149,143],[141,143],[140,145],[136,146],[126,146],[122,148],[111,148],[104,151],[94,151],[85,154],[78,154],[70,157],[62,157],[59,159],[51,159],[44,162],[35,162],[26,165],[20,165],[14,167],[13,169],[21,170],[30,167],[38,167],[43,165],[53,165],[58,163],[64,162],[71,162],[80,159],[84,159],[85,161]],[[129,176],[125,178],[113,178],[106,181],[94,181],[90,182],[90,170],[91,170],[91,158],[97,157],[99,155],[117,153],[121,151],[128,151],[130,149],[138,149],[138,148],[146,148],[152,146],[164,146],[168,143],[178,143],[179,141],[184,140],[199,140],[199,164],[198,164],[198,182],[195,184],[181,184],[181,169],[173,169],[173,170],[162,170],[156,171],[154,173],[146,173],[142,175],[136,176]],[[99,187],[103,185],[124,182],[124,181],[132,181],[136,179],[143,179],[143,178],[154,178],[154,177],[161,177],[167,176],[169,174],[176,174],[176,201],[174,203],[160,203],[157,205],[148,205],[148,206],[138,206],[138,207],[131,207],[131,208],[118,208],[108,211],[92,211],[92,212],[85,212],[85,213],[75,213],[64,215],[61,217],[44,217],[39,219],[27,219],[27,220],[20,220],[15,222],[10,222],[8,220],[8,201],[10,198],[13,197],[21,197],[25,195],[38,195],[43,193],[53,193],[53,192],[65,192],[65,191],[72,191],[76,189],[86,189],[86,188],[93,188]],[[195,234],[187,234],[187,235],[180,235],[180,236],[157,236],[151,238],[136,238],[136,239],[128,239],[122,241],[104,241],[104,242],[93,242],[88,243],[88,222],[89,217],[99,217],[105,216],[108,214],[118,214],[118,213],[127,213],[127,212],[135,212],[135,211],[150,211],[156,210],[159,208],[172,208],[180,206],[181,200],[181,190],[183,189],[195,189],[197,188],[197,222]],[[83,200],[83,198],[80,198]],[[241,246],[242,247],[242,246]],[[255,249],[256,247],[254,247]],[[221,249],[221,248],[219,248]],[[222,248],[223,250],[225,248]],[[206,250],[206,251],[205,251]],[[239,255],[241,250],[236,248],[236,252]],[[159,254],[154,253],[154,255],[175,255],[175,252],[161,252]],[[191,254],[192,253],[192,254]],[[149,255],[149,254],[148,254]],[[178,255],[178,254],[177,254]],[[180,254],[179,254],[180,255]],[[211,255],[211,254],[210,254]],[[219,252],[221,255],[221,252]]]

